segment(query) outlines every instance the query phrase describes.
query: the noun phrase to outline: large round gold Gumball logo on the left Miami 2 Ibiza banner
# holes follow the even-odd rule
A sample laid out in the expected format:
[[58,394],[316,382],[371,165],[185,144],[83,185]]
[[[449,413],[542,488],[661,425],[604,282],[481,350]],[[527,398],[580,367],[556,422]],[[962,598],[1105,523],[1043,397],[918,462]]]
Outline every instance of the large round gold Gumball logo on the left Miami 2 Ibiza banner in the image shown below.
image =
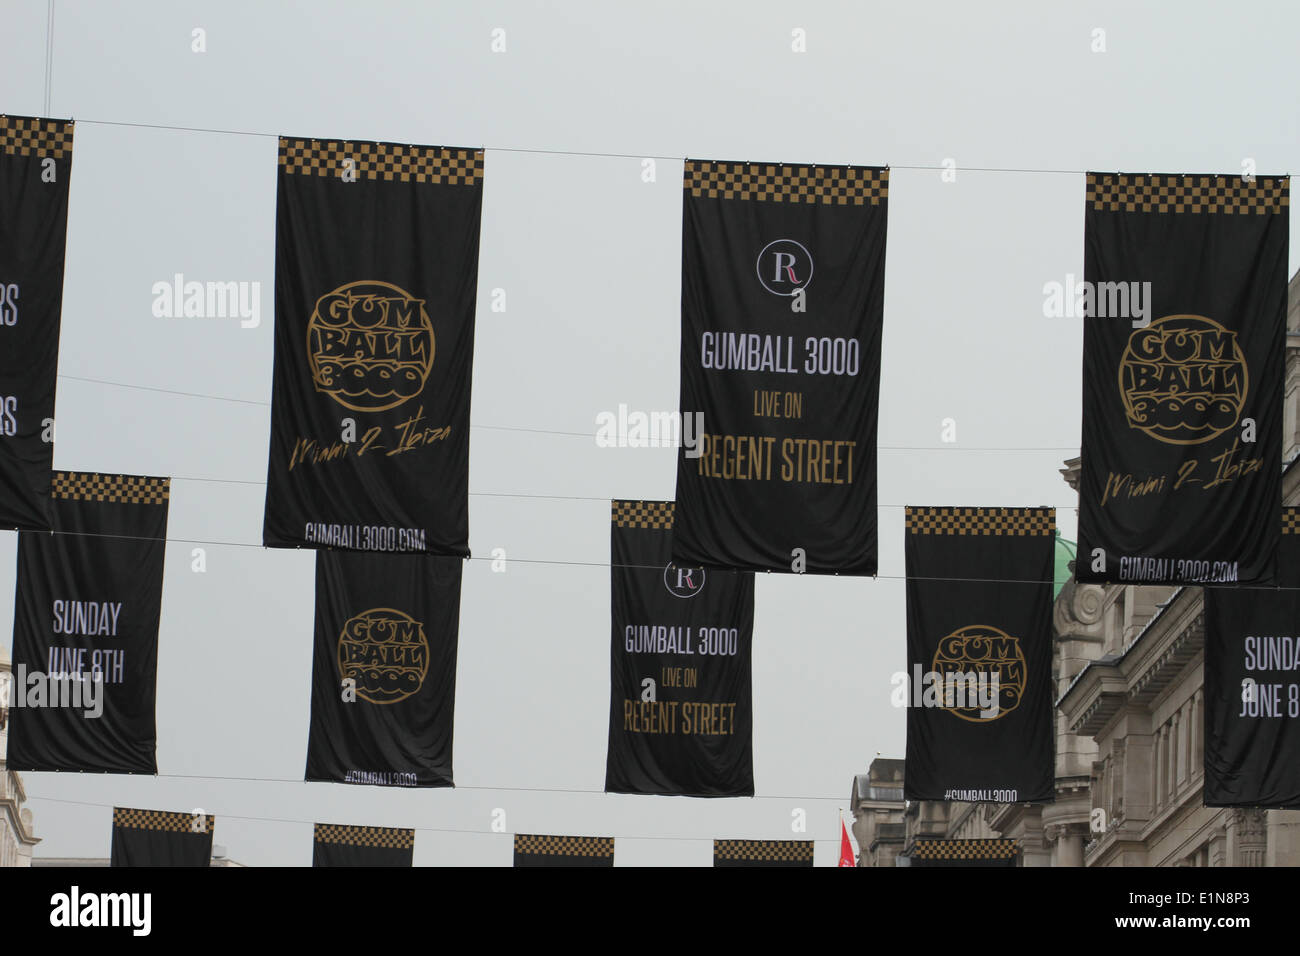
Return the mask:
[[307,323],[316,390],[352,411],[384,411],[419,395],[433,351],[424,299],[391,282],[339,286],[317,299]]

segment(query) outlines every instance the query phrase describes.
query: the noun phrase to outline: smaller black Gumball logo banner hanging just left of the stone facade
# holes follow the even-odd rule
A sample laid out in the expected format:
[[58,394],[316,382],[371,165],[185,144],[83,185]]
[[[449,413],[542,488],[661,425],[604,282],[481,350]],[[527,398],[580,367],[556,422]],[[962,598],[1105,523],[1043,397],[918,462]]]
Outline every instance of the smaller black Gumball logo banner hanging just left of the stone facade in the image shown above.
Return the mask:
[[1050,803],[1052,509],[906,509],[907,800]]

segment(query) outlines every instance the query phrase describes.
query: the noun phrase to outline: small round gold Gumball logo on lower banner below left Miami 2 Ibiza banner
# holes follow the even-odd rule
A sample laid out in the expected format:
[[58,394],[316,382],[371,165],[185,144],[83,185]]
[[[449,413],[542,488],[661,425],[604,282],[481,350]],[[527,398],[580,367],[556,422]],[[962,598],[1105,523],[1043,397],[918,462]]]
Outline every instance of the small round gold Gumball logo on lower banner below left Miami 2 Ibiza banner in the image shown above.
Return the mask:
[[429,639],[424,624],[391,607],[372,607],[343,624],[338,670],[356,682],[356,696],[370,704],[396,704],[424,687]]

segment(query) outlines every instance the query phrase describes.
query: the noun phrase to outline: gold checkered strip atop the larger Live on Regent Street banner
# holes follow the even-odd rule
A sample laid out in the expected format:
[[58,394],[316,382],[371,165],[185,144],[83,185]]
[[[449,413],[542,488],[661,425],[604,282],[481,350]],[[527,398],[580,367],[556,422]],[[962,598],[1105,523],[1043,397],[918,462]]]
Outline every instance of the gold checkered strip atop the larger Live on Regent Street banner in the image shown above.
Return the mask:
[[889,198],[889,170],[686,160],[682,189],[697,199],[880,206]]

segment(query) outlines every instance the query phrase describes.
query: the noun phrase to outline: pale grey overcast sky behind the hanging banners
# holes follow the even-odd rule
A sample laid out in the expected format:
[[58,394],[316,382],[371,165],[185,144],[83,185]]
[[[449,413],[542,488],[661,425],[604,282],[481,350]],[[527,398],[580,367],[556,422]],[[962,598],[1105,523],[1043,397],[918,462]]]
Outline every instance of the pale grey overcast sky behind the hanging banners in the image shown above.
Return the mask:
[[[419,827],[417,865],[508,865],[510,832],[615,836],[620,865],[816,839],[833,864],[853,775],[904,754],[901,506],[1053,505],[1074,537],[1058,468],[1079,444],[1082,326],[1043,316],[1043,286],[1082,277],[1082,170],[1300,166],[1284,1],[57,0],[48,111],[47,9],[3,0],[0,111],[77,121],[55,467],[173,485],[160,777],[26,774],[38,856],[107,857],[125,805],[214,813],[252,865],[308,865],[313,821]],[[302,782],[313,557],[260,546],[276,134],[486,147],[455,791]],[[582,436],[620,403],[677,408],[682,156],[892,165],[880,578],[759,576],[755,799],[601,792],[608,499],[671,499],[675,453]],[[155,317],[151,287],[176,273],[260,282],[260,326]],[[203,545],[195,574],[191,541],[231,544]],[[16,545],[0,532],[0,635]],[[597,566],[494,574],[494,548]]]

